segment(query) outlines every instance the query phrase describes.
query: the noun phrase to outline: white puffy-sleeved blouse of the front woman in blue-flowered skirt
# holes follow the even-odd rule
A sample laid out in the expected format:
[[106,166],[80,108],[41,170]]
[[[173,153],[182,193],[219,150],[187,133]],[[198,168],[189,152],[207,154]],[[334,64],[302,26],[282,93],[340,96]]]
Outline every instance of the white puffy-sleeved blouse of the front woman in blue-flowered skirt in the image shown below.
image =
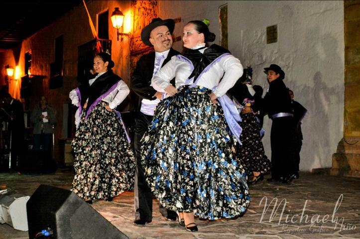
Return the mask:
[[[207,72],[200,75],[197,85],[210,90],[216,86],[213,92],[217,97],[221,97],[235,85],[242,75],[243,67],[240,60],[233,55],[222,56],[220,60],[216,60],[213,63]],[[192,64],[189,61],[185,61],[179,56],[173,56],[171,60],[152,77],[151,86],[158,92],[165,92],[164,89],[170,85],[170,80],[174,77],[176,88],[183,85],[192,85],[194,78],[186,82],[191,72]]]

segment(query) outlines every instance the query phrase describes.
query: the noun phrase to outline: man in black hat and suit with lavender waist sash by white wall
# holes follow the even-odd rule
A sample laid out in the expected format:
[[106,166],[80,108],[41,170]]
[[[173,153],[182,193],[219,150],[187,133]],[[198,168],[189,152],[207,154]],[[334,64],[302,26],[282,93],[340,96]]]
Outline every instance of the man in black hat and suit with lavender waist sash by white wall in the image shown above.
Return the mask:
[[263,103],[265,112],[272,119],[271,142],[271,179],[290,183],[296,178],[295,127],[291,99],[283,79],[285,73],[278,65],[264,68],[269,89]]

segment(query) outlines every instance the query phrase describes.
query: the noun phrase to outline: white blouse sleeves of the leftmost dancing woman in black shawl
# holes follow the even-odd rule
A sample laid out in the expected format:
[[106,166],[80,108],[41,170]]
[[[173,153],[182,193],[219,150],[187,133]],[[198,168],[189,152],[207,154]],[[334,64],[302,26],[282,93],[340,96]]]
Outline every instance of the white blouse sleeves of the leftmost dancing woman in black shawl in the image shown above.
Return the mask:
[[[116,89],[114,89],[114,91],[112,91],[102,101],[109,103],[110,109],[115,109],[126,98],[129,92],[130,90],[126,83],[123,80],[120,80]],[[69,98],[71,99],[71,104],[79,107],[79,97],[76,94],[75,89],[70,92]]]

